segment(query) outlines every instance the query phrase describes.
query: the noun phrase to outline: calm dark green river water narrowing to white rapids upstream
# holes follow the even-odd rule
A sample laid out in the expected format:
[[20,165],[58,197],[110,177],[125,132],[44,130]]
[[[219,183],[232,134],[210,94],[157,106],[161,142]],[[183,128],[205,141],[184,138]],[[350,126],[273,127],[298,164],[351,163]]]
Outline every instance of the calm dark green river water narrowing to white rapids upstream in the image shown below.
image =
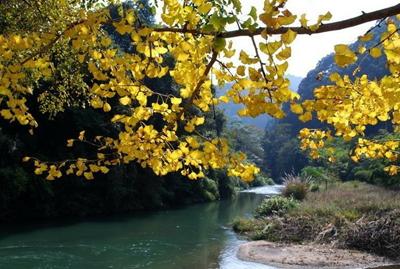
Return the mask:
[[236,258],[243,242],[229,228],[251,216],[279,186],[232,200],[69,224],[26,224],[0,231],[1,269],[270,269]]

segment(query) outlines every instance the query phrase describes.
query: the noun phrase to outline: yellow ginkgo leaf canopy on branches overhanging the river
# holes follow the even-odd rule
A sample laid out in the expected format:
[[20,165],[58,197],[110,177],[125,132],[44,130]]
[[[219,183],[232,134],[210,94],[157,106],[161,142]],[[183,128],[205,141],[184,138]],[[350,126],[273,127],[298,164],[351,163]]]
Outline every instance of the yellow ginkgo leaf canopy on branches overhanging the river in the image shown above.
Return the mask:
[[[41,85],[57,80],[51,52],[62,44],[76,59],[74,63],[88,72],[84,78],[76,74],[87,85],[87,105],[110,113],[112,123],[120,128],[116,137],[87,138],[82,131],[76,139],[67,141],[69,147],[76,142],[96,146],[97,155],[91,158],[61,162],[24,159],[33,159],[35,173],[47,173],[49,180],[64,173],[92,179],[96,172],[107,173],[112,165],[132,161],[157,175],[180,171],[197,179],[206,169],[227,168],[229,175],[251,180],[259,169],[246,162],[243,154],[231,152],[225,139],[204,137],[197,130],[205,122],[204,113],[219,102],[243,104],[239,111],[242,116],[267,113],[275,118],[284,117],[282,105],[290,103],[302,121],[317,117],[331,124],[335,135],[344,139],[363,136],[367,125],[380,121],[400,122],[400,36],[392,19],[386,20],[387,32],[373,47],[354,51],[343,44],[335,46],[339,66],[350,65],[367,53],[384,55],[390,76],[370,81],[357,68],[360,78],[355,80],[331,74],[332,85],[316,89],[315,100],[301,103],[285,77],[290,45],[298,34],[335,30],[325,24],[332,17],[329,12],[309,23],[306,15],[298,17],[285,8],[286,0],[265,0],[262,10],[253,7],[249,14],[242,14],[238,0],[165,0],[154,2],[162,10],[162,22],[147,25],[140,20],[140,6],[129,9],[121,5],[119,16],[111,16],[108,5],[119,5],[119,1],[6,2],[0,4],[4,14],[18,14],[22,6],[27,12],[19,13],[19,20],[6,25],[0,35],[0,115],[34,132],[38,123],[27,100]],[[394,15],[398,13],[396,7],[389,13],[365,14],[365,20],[354,25],[380,14],[382,18]],[[17,27],[18,23],[27,27]],[[134,50],[118,48],[105,30],[110,25],[120,35],[130,37]],[[232,25],[238,30],[227,31]],[[348,25],[343,24],[345,27]],[[263,41],[257,44],[255,35],[261,35]],[[237,36],[247,36],[252,50],[235,51]],[[370,38],[368,34],[361,37],[365,42]],[[173,63],[168,61],[171,58]],[[146,79],[164,77],[176,83],[175,94],[146,86]],[[232,85],[226,96],[214,96],[212,78],[219,85]],[[70,84],[60,85],[65,88]],[[153,124],[155,120],[162,124]],[[317,150],[330,133],[305,129],[300,134],[302,147],[317,157]],[[397,160],[399,143],[385,143],[361,139],[354,159]],[[394,173],[397,166],[389,170]]]

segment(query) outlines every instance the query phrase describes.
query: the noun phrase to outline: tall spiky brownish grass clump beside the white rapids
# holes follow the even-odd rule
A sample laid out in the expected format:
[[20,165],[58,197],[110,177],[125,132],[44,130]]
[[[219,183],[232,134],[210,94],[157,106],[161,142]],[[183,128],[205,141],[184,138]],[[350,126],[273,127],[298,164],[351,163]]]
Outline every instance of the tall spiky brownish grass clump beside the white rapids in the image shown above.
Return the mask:
[[286,174],[283,178],[282,194],[285,197],[293,197],[296,200],[303,200],[307,196],[308,185],[311,177],[300,177],[298,175]]

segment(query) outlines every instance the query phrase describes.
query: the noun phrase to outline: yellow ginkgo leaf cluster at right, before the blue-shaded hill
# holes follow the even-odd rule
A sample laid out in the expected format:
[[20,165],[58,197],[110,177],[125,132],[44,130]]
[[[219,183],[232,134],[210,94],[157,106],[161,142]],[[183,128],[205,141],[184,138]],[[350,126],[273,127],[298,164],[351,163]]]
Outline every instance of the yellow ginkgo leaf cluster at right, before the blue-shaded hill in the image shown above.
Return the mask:
[[[372,36],[361,37],[367,42]],[[398,28],[388,20],[387,31],[381,36],[381,47],[373,47],[368,51],[365,47],[359,49],[363,53],[370,53],[372,57],[387,58],[390,75],[380,80],[370,80],[367,75],[350,79],[349,76],[340,76],[338,73],[330,75],[333,85],[322,86],[314,90],[314,100],[304,101],[302,104],[292,106],[292,111],[302,112],[303,108],[315,113],[318,120],[334,127],[335,135],[351,140],[364,136],[364,131],[369,125],[379,122],[391,121],[394,126],[400,123],[400,35]],[[356,53],[346,45],[335,47],[335,61],[339,66],[347,66],[357,60]],[[362,70],[361,70],[362,71]],[[355,72],[360,72],[356,68]],[[301,113],[298,113],[301,114]],[[301,117],[301,116],[300,116]],[[302,131],[302,147],[311,149],[311,154],[317,156],[314,143],[315,132]],[[319,145],[319,144],[318,144]],[[352,159],[360,158],[386,158],[391,162],[398,160],[396,149],[398,141],[369,141],[359,138],[353,152]],[[318,146],[317,146],[318,148]],[[390,165],[385,170],[389,174],[397,173],[397,165]]]

